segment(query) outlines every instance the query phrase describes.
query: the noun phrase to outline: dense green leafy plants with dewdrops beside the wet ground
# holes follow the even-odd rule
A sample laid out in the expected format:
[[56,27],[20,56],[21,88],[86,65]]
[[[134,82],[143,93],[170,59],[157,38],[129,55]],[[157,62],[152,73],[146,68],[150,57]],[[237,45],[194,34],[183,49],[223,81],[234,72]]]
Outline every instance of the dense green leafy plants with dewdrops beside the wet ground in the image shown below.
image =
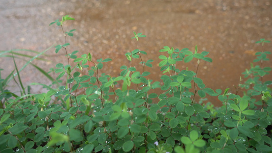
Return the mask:
[[[91,53],[80,57],[77,50],[68,53],[66,36],[73,36],[75,30],[64,32],[67,20],[74,19],[66,15],[51,23],[60,26],[65,35],[64,44],[55,48],[56,53],[66,52],[67,64],[58,63],[52,69],[58,77],[52,85],[43,85],[48,92],[25,93],[22,84],[21,95],[6,90],[14,71],[0,80],[1,152],[272,151],[272,82],[262,79],[271,71],[262,65],[269,61],[270,52],[256,53],[254,62],[260,65],[252,64],[243,72],[246,80],[233,94],[229,89],[214,91],[197,78],[200,63],[212,62],[209,52],[200,53],[197,46],[194,52],[164,46],[159,51],[163,54],[159,56],[161,85],[147,79],[150,72],[144,67],[152,67],[153,60],[144,60],[147,53],[143,50],[125,54],[130,62],[139,58],[143,69],[123,65],[117,77],[100,73],[111,59],[93,61]],[[142,37],[145,35],[134,32],[132,39]],[[256,43],[268,42],[261,39]],[[193,59],[197,60],[195,71],[177,67]],[[14,64],[16,67],[15,60]],[[163,93],[154,93],[156,88]],[[237,94],[240,88],[247,89],[243,96]],[[217,96],[222,107],[195,100],[207,94]]]

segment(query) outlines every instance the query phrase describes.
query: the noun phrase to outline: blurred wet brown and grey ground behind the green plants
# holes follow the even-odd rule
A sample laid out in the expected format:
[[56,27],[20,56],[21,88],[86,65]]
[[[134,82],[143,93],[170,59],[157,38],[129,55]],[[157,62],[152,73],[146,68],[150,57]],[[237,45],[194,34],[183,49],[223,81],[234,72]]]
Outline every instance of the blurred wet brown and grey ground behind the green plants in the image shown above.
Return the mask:
[[[68,52],[80,50],[82,54],[91,53],[95,59],[112,58],[103,68],[103,72],[112,76],[119,74],[120,66],[129,66],[125,53],[138,48],[135,39],[131,40],[133,31],[147,36],[140,39],[139,48],[147,52],[144,61],[155,60],[153,69],[146,69],[152,72],[150,78],[160,80],[162,73],[157,57],[164,54],[159,52],[163,46],[194,50],[197,45],[199,52],[208,51],[208,57],[213,59],[212,63],[201,61],[197,77],[206,87],[231,88],[231,92],[235,92],[241,73],[250,68],[254,54],[262,50],[271,52],[272,47],[272,43],[264,47],[255,44],[260,38],[272,40],[272,1],[269,0],[14,0],[0,2],[0,50],[24,48],[42,52],[53,44],[64,44],[61,29],[48,25],[67,14],[76,20],[67,21],[64,30],[77,30],[67,39],[71,44]],[[66,62],[63,50],[56,55],[52,48],[46,55],[43,58],[50,62],[35,60],[33,63],[48,71],[57,63]],[[0,62],[1,68],[5,68],[4,78],[13,70],[12,59],[0,58]],[[16,62],[19,68],[25,63],[19,59]],[[271,65],[268,61],[264,66]],[[196,60],[178,65],[180,69],[188,67],[193,71],[196,66]],[[21,78],[26,85],[50,83],[30,65],[21,72]],[[9,88],[16,87],[11,82]],[[38,86],[32,88],[34,92],[43,91]],[[210,101],[217,106],[221,104],[216,98]]]

